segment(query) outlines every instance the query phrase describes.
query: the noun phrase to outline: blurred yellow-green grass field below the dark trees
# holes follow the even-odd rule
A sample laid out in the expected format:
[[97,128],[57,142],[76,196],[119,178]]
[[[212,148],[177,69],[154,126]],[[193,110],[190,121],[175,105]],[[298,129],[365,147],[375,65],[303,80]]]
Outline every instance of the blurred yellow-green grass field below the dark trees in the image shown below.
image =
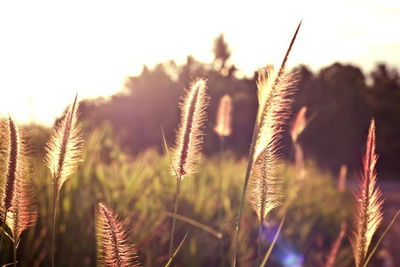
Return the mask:
[[[109,127],[85,137],[79,169],[61,190],[56,229],[56,266],[93,266],[96,262],[95,206],[103,201],[126,224],[129,241],[136,244],[143,266],[161,266],[168,260],[176,178],[169,160],[149,150],[128,156],[113,141]],[[176,242],[188,231],[175,266],[228,266],[235,217],[240,202],[246,159],[224,152],[203,158],[194,177],[182,181],[178,214],[208,228],[177,220]],[[38,196],[39,219],[23,234],[19,266],[50,265],[52,181],[43,159],[33,159],[32,176]],[[287,207],[282,234],[269,266],[319,266],[336,239],[340,222],[349,216],[351,201],[336,188],[336,177],[306,163],[304,180],[295,179],[295,168],[286,164],[286,199],[265,222],[263,242],[269,244]],[[219,179],[222,201],[218,201]],[[219,217],[219,211],[222,216]],[[222,238],[218,238],[218,234]],[[246,203],[239,236],[240,266],[254,266],[257,256],[258,220]],[[268,246],[264,246],[265,250]],[[265,253],[265,251],[264,251]],[[297,261],[298,265],[294,262]],[[4,242],[1,263],[12,262],[9,240]],[[349,244],[344,242],[337,257],[339,266],[351,266]]]

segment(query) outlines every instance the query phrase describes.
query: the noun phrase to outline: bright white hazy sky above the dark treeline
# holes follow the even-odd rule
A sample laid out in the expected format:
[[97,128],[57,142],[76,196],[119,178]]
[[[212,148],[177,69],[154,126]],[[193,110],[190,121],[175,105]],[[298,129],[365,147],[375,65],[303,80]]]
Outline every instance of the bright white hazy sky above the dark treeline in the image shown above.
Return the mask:
[[301,18],[291,66],[400,66],[398,0],[2,1],[0,115],[51,124],[76,92],[111,95],[143,64],[211,62],[220,33],[252,74],[280,62]]

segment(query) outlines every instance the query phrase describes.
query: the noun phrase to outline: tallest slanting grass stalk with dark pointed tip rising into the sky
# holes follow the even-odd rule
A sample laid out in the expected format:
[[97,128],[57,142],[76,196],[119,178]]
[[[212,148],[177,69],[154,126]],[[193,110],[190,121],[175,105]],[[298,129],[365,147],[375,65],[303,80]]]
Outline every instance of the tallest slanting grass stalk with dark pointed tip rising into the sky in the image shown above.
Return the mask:
[[[242,190],[242,196],[241,196],[241,201],[239,205],[239,215],[238,215],[238,220],[237,224],[235,227],[235,234],[234,234],[234,239],[233,239],[233,248],[232,248],[232,261],[231,261],[231,266],[235,267],[236,266],[236,259],[237,259],[237,244],[238,244],[238,237],[239,237],[239,231],[240,231],[240,223],[242,219],[242,213],[243,213],[243,207],[244,207],[244,199],[246,196],[246,190],[247,190],[247,185],[249,182],[250,178],[250,173],[253,167],[254,159],[257,159],[259,154],[265,149],[265,147],[268,144],[268,136],[264,136],[261,134],[263,131],[268,132],[268,118],[272,114],[271,113],[271,108],[273,108],[274,105],[272,105],[274,99],[279,95],[276,93],[276,90],[278,88],[285,88],[286,89],[290,88],[290,79],[285,79],[285,67],[286,67],[286,62],[288,60],[290,51],[293,47],[294,41],[296,40],[297,34],[299,32],[301,26],[301,22],[297,26],[297,29],[293,35],[293,38],[289,44],[289,48],[286,51],[286,55],[282,61],[282,64],[279,68],[278,71],[275,72],[273,68],[269,68],[267,72],[261,72],[261,75],[259,76],[259,82],[258,82],[258,112],[257,112],[257,118],[256,122],[254,124],[254,130],[253,130],[253,136],[252,136],[252,141],[250,145],[250,152],[249,152],[249,159],[248,159],[248,164],[247,164],[247,170],[245,174],[245,179],[244,179],[244,184],[243,184],[243,190]],[[287,76],[286,76],[287,78]],[[281,95],[280,97],[283,97]],[[277,118],[279,119],[279,118]]]

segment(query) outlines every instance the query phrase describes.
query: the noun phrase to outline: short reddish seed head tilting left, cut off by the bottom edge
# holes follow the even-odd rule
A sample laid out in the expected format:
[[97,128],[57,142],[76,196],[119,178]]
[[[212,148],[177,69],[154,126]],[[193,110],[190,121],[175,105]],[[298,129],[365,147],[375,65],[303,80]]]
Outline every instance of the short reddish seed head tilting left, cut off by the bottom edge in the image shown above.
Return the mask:
[[96,207],[96,238],[99,266],[139,266],[136,249],[127,242],[123,225],[103,203]]

